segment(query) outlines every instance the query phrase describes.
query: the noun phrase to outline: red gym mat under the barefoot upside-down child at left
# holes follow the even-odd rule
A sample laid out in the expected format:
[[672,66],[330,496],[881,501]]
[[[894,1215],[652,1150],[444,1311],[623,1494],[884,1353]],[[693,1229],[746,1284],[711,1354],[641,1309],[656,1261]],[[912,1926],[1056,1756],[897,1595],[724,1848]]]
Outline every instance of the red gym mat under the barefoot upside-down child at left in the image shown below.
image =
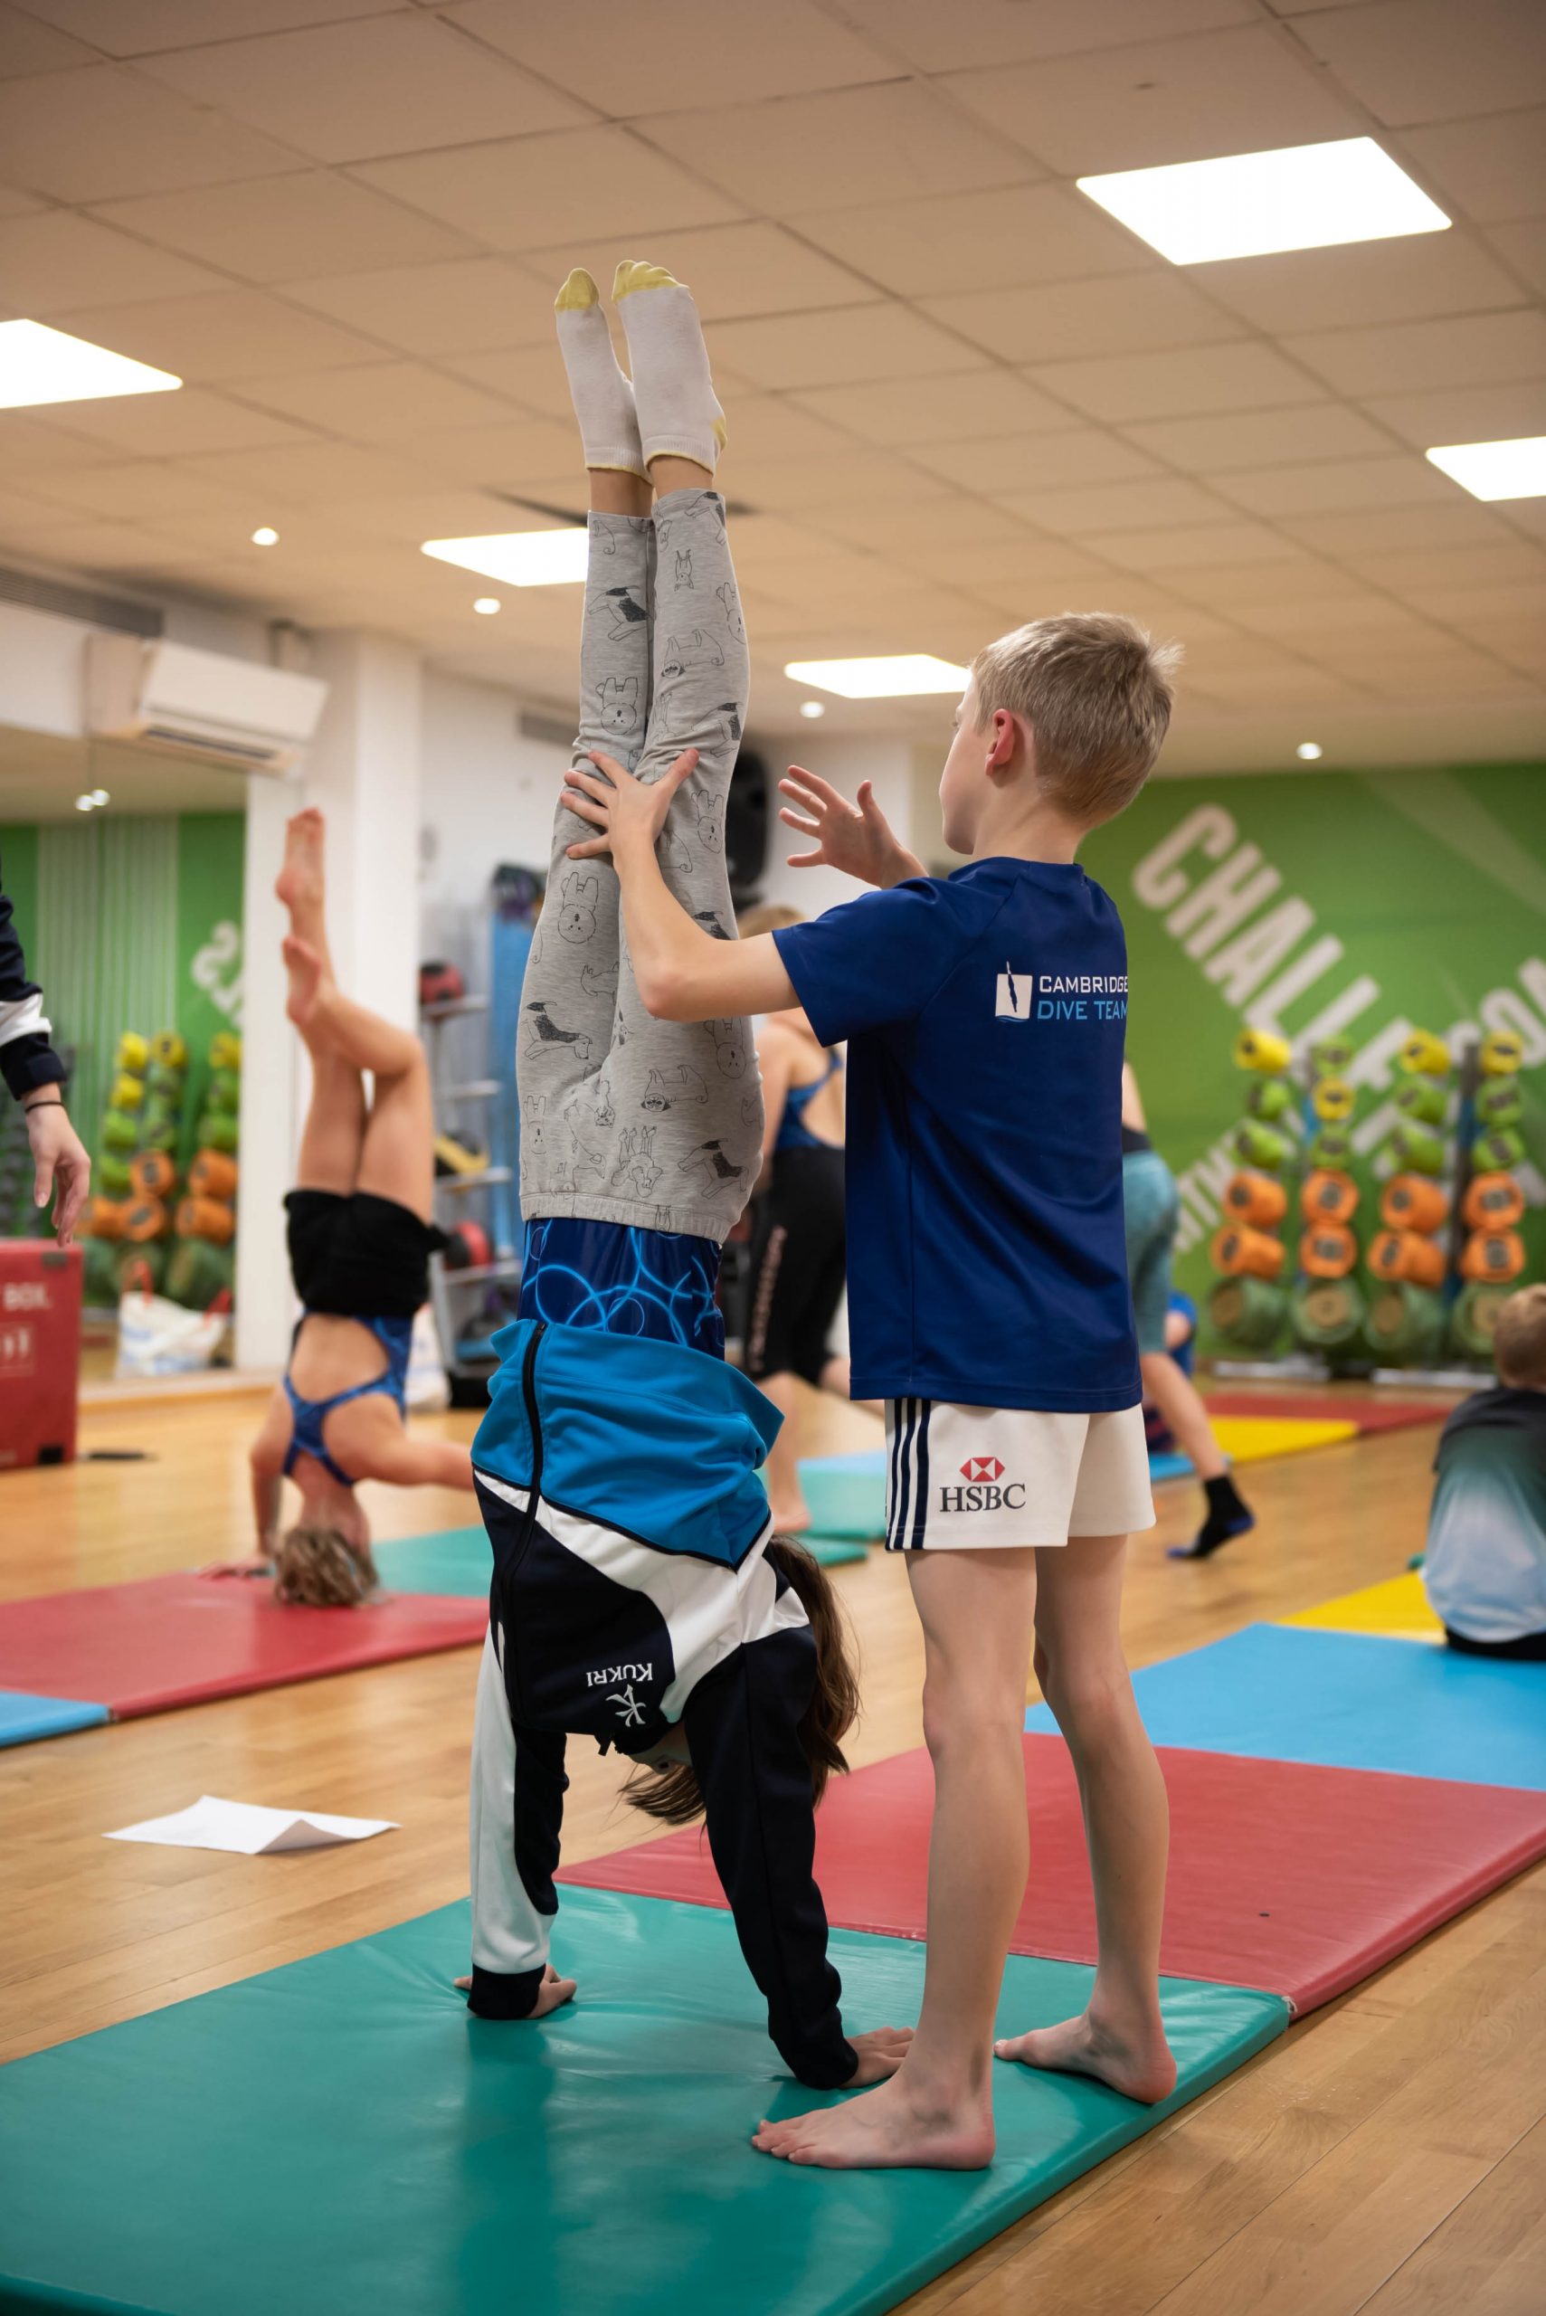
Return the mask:
[[280,1607],[266,1584],[169,1575],[0,1605],[0,1688],[90,1698],[116,1721],[285,1688],[484,1637],[486,1600],[396,1593]]

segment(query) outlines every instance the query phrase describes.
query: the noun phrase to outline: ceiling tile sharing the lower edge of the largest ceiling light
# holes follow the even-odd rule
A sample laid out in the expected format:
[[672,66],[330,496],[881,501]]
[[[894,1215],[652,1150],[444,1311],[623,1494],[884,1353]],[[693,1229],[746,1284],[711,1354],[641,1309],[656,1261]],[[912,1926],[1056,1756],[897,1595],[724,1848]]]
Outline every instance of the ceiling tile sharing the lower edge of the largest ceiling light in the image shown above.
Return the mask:
[[1284,250],[1197,266],[1192,278],[1257,329],[1340,329],[1516,306],[1474,234],[1412,234],[1345,250]]

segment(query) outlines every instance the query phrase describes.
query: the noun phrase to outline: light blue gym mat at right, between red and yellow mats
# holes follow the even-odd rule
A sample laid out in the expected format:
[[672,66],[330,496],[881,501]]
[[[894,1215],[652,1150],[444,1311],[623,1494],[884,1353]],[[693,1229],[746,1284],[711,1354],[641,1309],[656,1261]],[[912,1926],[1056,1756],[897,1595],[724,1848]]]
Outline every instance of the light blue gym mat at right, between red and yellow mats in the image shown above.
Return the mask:
[[[1546,1665],[1247,1624],[1134,1688],[1155,1744],[1546,1790]],[[1055,1723],[1035,1705],[1025,1728]]]

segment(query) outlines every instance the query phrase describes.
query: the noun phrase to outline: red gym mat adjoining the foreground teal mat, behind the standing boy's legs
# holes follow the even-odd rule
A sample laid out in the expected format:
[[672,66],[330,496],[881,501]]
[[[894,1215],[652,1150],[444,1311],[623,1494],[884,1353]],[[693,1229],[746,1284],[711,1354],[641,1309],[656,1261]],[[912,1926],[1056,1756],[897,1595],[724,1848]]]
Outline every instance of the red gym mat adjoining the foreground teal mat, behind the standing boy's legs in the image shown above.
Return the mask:
[[[1451,1913],[1546,1855],[1546,1793],[1319,1769],[1162,1746],[1171,1878],[1160,1969],[1284,1994],[1315,2010]],[[1016,1955],[1095,1962],[1095,1906],[1074,1765],[1025,1737],[1030,1890]],[[928,1753],[835,1776],[817,1816],[817,1878],[840,1929],[921,1938]],[[724,1906],[699,1827],[641,1841],[560,1881]]]

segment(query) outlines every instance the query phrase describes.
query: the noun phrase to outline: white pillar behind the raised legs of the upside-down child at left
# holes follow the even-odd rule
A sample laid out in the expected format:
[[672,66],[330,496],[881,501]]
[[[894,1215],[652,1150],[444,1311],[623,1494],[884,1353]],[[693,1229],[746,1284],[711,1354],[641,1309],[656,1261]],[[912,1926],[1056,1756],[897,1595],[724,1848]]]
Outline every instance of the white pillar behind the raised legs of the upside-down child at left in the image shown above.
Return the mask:
[[419,655],[380,635],[319,635],[310,672],[329,699],[301,783],[248,780],[236,1364],[250,1369],[285,1364],[296,1318],[282,1197],[310,1082],[285,1017],[287,919],[273,878],[285,820],[301,804],[317,804],[329,822],[338,987],[389,1021],[419,1024]]

